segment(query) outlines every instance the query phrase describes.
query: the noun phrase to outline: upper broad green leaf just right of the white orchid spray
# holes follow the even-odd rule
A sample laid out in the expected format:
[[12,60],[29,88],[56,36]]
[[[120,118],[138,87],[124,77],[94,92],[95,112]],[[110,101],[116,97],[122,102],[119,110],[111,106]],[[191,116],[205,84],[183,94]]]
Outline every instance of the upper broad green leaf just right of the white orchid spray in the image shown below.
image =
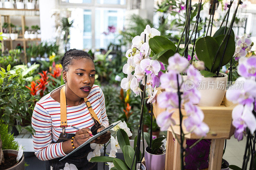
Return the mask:
[[150,49],[155,54],[169,49],[171,49],[172,51],[176,51],[176,46],[173,44],[173,42],[163,36],[155,36],[153,38],[150,38],[148,44]]

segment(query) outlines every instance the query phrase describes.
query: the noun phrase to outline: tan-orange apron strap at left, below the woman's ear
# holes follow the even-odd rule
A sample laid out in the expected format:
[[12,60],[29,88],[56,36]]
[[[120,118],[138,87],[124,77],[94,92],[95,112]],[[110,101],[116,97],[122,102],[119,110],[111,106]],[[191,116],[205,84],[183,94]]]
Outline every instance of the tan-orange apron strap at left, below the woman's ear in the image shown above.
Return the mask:
[[60,89],[60,127],[68,127],[65,85]]

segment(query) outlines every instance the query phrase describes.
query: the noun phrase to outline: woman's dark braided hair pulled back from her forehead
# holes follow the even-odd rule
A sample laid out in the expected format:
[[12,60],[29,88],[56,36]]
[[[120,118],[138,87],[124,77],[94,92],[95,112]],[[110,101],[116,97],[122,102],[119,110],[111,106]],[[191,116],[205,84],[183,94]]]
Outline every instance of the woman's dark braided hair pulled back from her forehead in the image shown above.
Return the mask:
[[82,58],[91,59],[93,62],[92,57],[87,52],[83,50],[70,49],[62,57],[60,64],[62,65],[64,71],[68,71],[68,66],[73,63],[73,59],[78,60]]

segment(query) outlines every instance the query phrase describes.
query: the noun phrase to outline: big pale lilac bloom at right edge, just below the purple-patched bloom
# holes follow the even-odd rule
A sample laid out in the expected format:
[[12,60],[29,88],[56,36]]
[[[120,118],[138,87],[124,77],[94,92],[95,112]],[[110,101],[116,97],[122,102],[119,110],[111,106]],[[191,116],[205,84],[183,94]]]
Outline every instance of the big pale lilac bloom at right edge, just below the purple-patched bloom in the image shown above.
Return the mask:
[[256,97],[256,82],[255,80],[239,77],[235,83],[229,87],[226,92],[226,98],[233,103],[242,105],[251,105]]

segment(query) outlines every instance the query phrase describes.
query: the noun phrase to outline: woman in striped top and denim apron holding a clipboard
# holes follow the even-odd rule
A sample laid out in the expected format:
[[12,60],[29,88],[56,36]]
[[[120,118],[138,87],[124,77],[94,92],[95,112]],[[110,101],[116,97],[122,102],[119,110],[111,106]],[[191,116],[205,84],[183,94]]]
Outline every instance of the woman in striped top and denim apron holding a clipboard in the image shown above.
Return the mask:
[[[92,151],[90,144],[59,161],[91,138],[90,134],[95,135],[109,125],[104,95],[99,86],[93,85],[95,67],[90,55],[71,49],[64,54],[61,65],[65,85],[42,97],[33,112],[35,154],[46,160],[46,169],[63,169],[66,162],[78,169],[97,169],[96,163],[87,160]],[[91,143],[105,144],[109,139],[108,131]]]

